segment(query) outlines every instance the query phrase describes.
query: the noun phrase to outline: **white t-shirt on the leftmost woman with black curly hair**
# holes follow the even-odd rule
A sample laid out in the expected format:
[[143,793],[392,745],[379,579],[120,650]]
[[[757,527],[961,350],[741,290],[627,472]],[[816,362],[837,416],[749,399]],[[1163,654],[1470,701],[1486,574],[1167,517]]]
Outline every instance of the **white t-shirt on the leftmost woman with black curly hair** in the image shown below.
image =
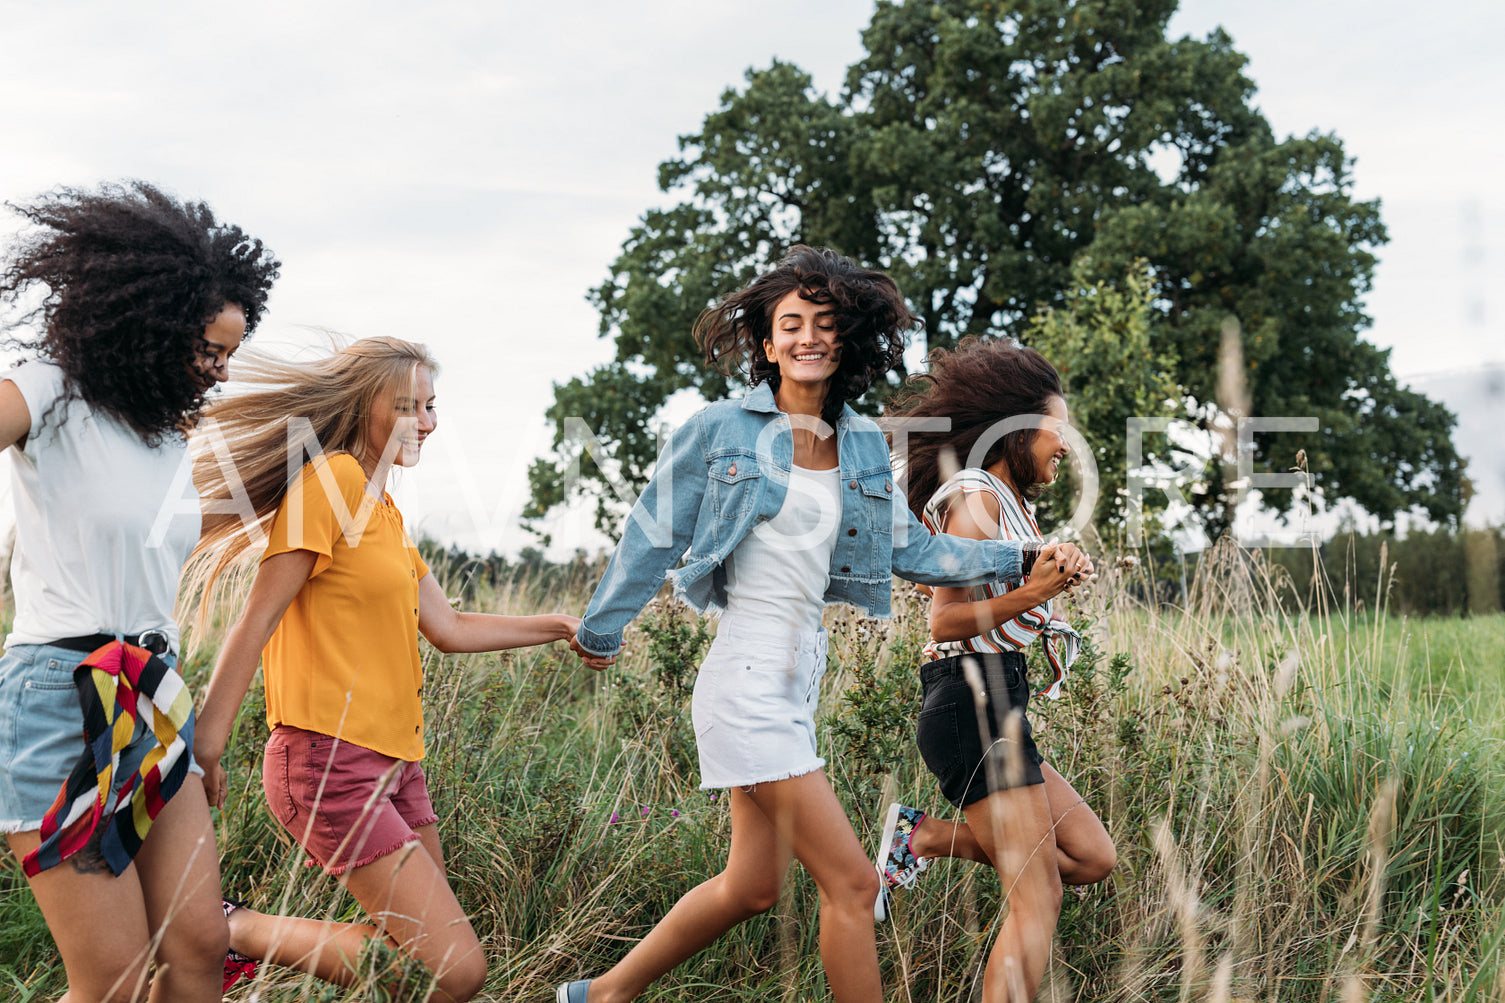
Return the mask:
[[6,648],[155,628],[176,649],[178,577],[200,529],[187,443],[167,434],[152,449],[83,401],[53,408],[63,393],[53,363],[0,378],[32,413],[26,449],[11,449],[15,623]]

